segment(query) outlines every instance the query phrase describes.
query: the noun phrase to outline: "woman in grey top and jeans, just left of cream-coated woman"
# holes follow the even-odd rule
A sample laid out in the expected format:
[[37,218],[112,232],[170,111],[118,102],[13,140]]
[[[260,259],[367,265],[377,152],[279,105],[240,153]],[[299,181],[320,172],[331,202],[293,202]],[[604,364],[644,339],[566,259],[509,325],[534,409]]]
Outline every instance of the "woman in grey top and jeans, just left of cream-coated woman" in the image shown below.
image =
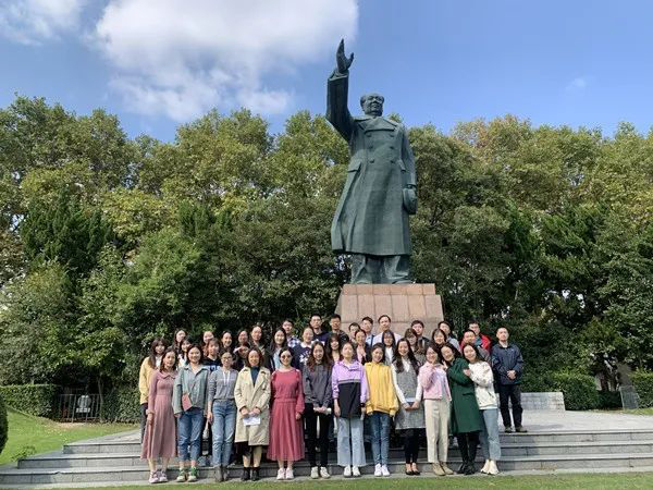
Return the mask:
[[230,351],[220,354],[222,367],[209,377],[209,396],[207,402],[208,419],[213,428],[213,466],[215,481],[226,481],[229,460],[236,430],[236,402],[234,388],[238,371],[232,368],[234,358]]

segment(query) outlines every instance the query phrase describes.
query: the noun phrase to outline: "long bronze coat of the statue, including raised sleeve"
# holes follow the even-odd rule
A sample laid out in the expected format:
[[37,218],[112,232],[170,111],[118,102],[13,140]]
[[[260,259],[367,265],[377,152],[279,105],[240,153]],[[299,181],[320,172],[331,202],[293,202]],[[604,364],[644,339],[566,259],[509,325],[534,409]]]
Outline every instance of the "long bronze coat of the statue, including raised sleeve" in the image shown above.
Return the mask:
[[336,253],[410,255],[403,191],[417,179],[406,128],[382,117],[353,118],[347,90],[348,74],[329,78],[326,119],[347,140],[352,155],[331,224],[331,247]]

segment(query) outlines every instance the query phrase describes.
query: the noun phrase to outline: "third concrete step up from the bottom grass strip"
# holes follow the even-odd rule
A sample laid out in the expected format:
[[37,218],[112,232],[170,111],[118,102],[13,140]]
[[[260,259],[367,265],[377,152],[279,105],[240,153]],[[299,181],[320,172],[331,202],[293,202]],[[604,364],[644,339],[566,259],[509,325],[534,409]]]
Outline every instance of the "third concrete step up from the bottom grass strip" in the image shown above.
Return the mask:
[[[653,440],[653,429],[642,430],[599,430],[599,431],[549,431],[528,433],[501,433],[501,444],[538,444],[551,442],[616,442]],[[205,448],[207,442],[205,441]],[[82,441],[66,444],[63,448],[66,454],[85,453],[140,453],[138,440],[120,441]]]

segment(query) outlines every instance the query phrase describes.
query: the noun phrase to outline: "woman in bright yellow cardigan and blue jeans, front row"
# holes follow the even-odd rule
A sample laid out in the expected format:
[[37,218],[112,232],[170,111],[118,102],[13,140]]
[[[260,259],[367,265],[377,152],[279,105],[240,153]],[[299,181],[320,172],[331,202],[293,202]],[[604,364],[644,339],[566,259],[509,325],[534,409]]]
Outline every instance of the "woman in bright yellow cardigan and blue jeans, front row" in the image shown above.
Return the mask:
[[387,446],[390,439],[390,417],[399,408],[392,382],[392,371],[385,365],[383,344],[372,347],[372,362],[365,365],[368,379],[369,399],[366,412],[372,430],[372,457],[374,476],[390,476],[387,469]]

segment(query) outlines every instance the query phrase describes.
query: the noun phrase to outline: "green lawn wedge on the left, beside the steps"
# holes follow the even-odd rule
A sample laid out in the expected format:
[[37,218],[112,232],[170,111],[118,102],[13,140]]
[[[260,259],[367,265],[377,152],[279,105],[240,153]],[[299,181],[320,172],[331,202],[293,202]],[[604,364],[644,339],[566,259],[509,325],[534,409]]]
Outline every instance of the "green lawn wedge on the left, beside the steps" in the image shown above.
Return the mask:
[[60,424],[11,408],[8,411],[8,418],[9,437],[4,451],[0,454],[0,465],[30,454],[60,449],[69,442],[99,438],[137,427],[131,424]]

